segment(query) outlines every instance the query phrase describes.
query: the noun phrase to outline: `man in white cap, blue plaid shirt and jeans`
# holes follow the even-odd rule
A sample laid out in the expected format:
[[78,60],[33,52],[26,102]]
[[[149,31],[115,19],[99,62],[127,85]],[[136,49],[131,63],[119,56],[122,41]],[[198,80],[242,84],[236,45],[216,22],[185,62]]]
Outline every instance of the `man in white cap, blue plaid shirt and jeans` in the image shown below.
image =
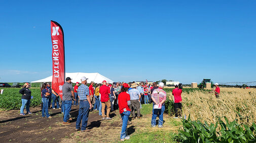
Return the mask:
[[[76,131],[81,129],[81,132],[88,132],[90,129],[86,129],[89,109],[92,109],[89,88],[86,86],[87,80],[85,77],[81,78],[81,86],[78,87],[78,97],[80,100],[79,113],[76,123]],[[80,127],[82,120],[82,127]]]

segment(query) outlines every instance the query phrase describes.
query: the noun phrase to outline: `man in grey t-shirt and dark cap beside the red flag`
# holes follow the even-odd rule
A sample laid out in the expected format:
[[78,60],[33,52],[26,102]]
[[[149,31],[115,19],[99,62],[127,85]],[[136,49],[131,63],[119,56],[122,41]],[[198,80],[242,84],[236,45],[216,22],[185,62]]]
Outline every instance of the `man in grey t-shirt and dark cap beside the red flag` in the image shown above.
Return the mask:
[[75,94],[71,85],[71,79],[69,77],[66,78],[66,82],[62,86],[62,93],[62,103],[64,104],[64,116],[62,125],[70,125],[71,123],[68,122],[68,119],[72,120],[72,118],[69,118],[69,112],[72,105],[72,99],[75,100]]

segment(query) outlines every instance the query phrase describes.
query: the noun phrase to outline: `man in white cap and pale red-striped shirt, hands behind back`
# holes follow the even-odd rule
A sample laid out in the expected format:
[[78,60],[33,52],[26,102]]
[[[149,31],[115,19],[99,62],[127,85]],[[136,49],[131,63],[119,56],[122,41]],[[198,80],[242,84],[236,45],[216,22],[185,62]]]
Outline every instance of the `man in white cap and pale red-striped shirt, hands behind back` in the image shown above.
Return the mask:
[[156,118],[159,116],[158,127],[163,127],[163,114],[164,114],[164,104],[166,101],[166,92],[163,90],[164,83],[160,82],[158,89],[152,92],[151,99],[153,101],[153,114],[151,120],[151,126],[156,127]]

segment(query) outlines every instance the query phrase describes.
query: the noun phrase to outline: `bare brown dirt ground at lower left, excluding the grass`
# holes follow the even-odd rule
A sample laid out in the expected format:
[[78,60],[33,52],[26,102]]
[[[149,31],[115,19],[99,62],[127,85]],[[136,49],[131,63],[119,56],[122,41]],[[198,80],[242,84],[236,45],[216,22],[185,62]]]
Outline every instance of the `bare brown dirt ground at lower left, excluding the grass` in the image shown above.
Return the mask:
[[[72,107],[70,115],[73,117],[71,125],[61,125],[63,114],[60,109],[49,109],[52,119],[43,118],[41,107],[30,108],[32,114],[19,115],[19,110],[0,111],[0,140],[1,142],[44,142],[61,141],[75,132],[78,106]],[[114,113],[113,113],[114,114]],[[88,127],[103,126],[101,116],[93,111],[89,114]]]

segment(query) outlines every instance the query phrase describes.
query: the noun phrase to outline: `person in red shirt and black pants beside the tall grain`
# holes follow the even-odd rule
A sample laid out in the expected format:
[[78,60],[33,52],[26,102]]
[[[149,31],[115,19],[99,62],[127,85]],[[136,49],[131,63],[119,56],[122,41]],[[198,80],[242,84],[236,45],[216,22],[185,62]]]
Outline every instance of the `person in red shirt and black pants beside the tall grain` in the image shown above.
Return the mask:
[[181,99],[182,90],[178,88],[178,85],[175,85],[175,89],[172,90],[172,95],[174,96],[174,118],[181,118],[182,114],[182,99]]

